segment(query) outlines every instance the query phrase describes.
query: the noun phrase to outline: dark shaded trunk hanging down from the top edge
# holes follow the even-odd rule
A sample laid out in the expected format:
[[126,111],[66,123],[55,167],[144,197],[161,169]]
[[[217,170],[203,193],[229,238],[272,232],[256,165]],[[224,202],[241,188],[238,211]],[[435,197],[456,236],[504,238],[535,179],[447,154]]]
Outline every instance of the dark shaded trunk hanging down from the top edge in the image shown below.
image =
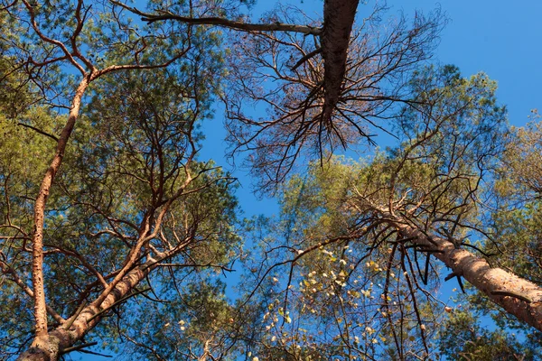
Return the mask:
[[324,104],[322,122],[324,124],[331,123],[333,109],[341,97],[350,32],[359,3],[360,0],[325,0],[323,3]]

